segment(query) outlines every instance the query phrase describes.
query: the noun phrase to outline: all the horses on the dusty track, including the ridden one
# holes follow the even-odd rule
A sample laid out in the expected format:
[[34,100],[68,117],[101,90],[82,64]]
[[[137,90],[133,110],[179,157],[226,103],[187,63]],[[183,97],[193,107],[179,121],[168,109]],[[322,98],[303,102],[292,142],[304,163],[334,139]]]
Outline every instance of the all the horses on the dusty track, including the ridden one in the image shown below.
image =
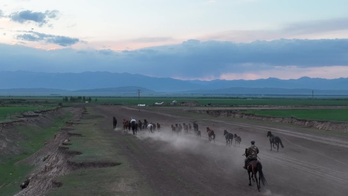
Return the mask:
[[[123,119],[123,131],[124,132],[128,132],[132,129],[133,134],[136,134],[138,130],[148,130],[149,132],[153,133],[156,129],[160,130],[161,129],[161,125],[159,123],[149,123],[146,119],[144,119],[143,122],[141,122],[140,120],[138,122],[136,122],[135,119],[130,118],[131,120],[128,121],[126,119]],[[113,123],[113,128],[116,127],[117,125],[117,120],[115,117],[113,117],[112,120]],[[181,124],[175,124],[175,125],[171,125],[171,130],[173,134],[178,134],[181,135],[182,131],[184,131],[184,134],[189,134],[191,132],[192,126],[191,124],[186,124],[183,123],[183,125]],[[194,133],[196,134],[196,136],[198,138],[200,138],[201,136],[201,132],[198,129],[198,124],[197,123],[193,123],[193,130]],[[214,141],[215,143],[215,132],[214,130],[210,129],[209,127],[207,127],[207,134],[208,134],[208,140],[209,142]],[[237,135],[236,133],[229,133],[226,129],[223,132],[223,135],[225,136],[226,139],[226,146],[231,146],[231,143],[233,141],[233,139],[235,138],[235,146],[238,144],[238,146],[240,146],[241,142],[242,142],[242,138]],[[272,134],[271,131],[267,132],[267,137],[269,137],[270,140],[270,144],[271,144],[271,150],[272,147],[275,149],[275,146],[277,146],[277,152],[279,151],[279,145],[281,146],[281,148],[284,148],[280,137],[275,136]],[[248,157],[248,149],[245,149],[245,153],[244,153],[245,157]],[[265,185],[265,183],[267,183],[266,178],[263,174],[262,171],[262,164],[260,161],[258,160],[251,160],[248,164],[247,164],[247,171],[248,171],[248,175],[249,175],[249,186],[251,186],[251,179],[252,181],[256,181],[256,186],[257,186],[257,190],[260,191],[260,183],[262,182],[263,185]],[[257,173],[258,173],[258,179],[257,179]],[[251,176],[250,176],[251,174]]]

